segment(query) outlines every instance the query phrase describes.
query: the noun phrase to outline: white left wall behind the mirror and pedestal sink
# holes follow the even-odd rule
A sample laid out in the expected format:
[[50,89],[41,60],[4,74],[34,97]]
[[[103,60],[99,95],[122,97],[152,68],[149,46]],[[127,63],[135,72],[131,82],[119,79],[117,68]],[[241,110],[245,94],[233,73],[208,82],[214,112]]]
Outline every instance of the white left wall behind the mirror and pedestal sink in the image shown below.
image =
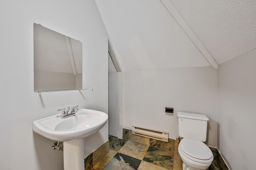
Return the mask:
[[[63,170],[63,152],[33,133],[32,122],[67,106],[108,112],[108,35],[98,8],[94,0],[2,1],[0,22],[0,169]],[[83,43],[88,90],[34,93],[33,23]],[[107,140],[108,124],[86,138],[85,156]]]

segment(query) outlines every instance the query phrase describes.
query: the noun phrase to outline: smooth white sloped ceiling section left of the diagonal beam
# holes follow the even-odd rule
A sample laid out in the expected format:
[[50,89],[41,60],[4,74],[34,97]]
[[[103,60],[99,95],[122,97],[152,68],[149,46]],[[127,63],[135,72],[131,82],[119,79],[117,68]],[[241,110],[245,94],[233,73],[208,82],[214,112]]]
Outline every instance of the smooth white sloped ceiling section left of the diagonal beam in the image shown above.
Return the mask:
[[210,66],[160,0],[96,0],[122,70]]

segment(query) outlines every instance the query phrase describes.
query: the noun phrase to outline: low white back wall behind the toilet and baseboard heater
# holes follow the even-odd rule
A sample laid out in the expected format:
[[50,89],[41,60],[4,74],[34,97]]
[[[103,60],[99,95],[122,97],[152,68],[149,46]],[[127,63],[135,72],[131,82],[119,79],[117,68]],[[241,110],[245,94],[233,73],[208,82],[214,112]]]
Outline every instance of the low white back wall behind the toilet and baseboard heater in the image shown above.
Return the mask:
[[[209,117],[208,145],[217,147],[217,70],[211,66],[123,72],[124,128],[132,125],[178,136],[177,111]],[[166,115],[165,107],[174,107]]]

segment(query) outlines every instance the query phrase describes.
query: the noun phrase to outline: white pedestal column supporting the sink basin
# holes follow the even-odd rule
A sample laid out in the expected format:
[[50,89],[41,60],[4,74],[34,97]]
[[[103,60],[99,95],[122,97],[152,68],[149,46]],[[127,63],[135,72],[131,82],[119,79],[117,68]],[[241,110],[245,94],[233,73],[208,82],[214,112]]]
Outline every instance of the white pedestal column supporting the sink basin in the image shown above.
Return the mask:
[[63,142],[64,170],[84,170],[84,138]]

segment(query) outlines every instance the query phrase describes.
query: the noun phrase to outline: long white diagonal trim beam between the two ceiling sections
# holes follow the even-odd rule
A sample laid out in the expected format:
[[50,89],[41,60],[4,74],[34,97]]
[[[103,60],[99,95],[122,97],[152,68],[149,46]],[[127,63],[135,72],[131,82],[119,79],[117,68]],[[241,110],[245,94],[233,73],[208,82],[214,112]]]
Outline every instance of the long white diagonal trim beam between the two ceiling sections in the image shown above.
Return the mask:
[[204,58],[211,64],[211,66],[215,69],[218,69],[218,63],[212,57],[210,52],[206,49],[204,44],[200,41],[194,31],[190,28],[188,23],[184,20],[184,18],[180,15],[180,13],[176,10],[170,0],[160,0],[160,2],[164,5],[169,14],[174,18],[174,20],[180,25],[183,31],[186,33],[188,38],[194,43],[196,48],[202,53]]

